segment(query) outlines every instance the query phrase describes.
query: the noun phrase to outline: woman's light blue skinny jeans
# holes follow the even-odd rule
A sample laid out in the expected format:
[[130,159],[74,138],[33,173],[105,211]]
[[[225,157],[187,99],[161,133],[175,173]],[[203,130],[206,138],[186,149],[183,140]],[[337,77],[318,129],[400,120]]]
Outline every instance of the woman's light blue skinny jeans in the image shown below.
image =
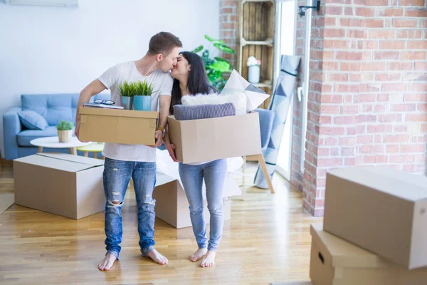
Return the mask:
[[206,248],[206,224],[204,221],[202,185],[205,180],[206,199],[211,214],[208,249],[216,251],[223,232],[223,186],[227,174],[227,160],[214,160],[203,165],[179,163],[179,176],[190,204],[191,224],[199,249]]

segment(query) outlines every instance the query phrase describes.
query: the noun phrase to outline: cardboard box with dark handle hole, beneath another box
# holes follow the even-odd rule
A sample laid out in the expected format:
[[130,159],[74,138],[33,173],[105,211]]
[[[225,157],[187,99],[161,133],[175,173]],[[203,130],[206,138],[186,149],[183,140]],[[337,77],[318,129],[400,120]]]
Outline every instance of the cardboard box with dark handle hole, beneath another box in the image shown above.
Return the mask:
[[314,285],[425,285],[427,268],[408,270],[312,224],[310,279]]

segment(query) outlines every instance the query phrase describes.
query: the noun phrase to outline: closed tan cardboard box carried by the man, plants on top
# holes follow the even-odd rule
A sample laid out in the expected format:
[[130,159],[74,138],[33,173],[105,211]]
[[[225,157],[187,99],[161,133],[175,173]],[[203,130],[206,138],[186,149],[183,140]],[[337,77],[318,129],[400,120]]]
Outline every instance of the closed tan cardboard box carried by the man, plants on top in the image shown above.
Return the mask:
[[154,145],[158,112],[80,107],[79,138],[90,142]]

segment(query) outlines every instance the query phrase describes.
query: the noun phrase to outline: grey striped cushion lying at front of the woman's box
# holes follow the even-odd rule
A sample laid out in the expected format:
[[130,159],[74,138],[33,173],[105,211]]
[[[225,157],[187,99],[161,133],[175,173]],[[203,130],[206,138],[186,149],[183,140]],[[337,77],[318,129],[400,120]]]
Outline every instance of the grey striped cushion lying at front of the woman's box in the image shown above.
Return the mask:
[[174,105],[176,120],[197,120],[236,115],[233,103],[206,104],[206,105]]

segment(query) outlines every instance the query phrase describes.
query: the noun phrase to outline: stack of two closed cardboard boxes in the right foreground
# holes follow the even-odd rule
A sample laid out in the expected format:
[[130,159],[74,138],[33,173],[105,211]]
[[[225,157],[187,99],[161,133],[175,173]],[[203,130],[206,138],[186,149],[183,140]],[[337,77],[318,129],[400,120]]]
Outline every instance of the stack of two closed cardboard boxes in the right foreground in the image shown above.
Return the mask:
[[327,174],[325,219],[312,225],[313,284],[427,284],[427,178],[389,167]]

